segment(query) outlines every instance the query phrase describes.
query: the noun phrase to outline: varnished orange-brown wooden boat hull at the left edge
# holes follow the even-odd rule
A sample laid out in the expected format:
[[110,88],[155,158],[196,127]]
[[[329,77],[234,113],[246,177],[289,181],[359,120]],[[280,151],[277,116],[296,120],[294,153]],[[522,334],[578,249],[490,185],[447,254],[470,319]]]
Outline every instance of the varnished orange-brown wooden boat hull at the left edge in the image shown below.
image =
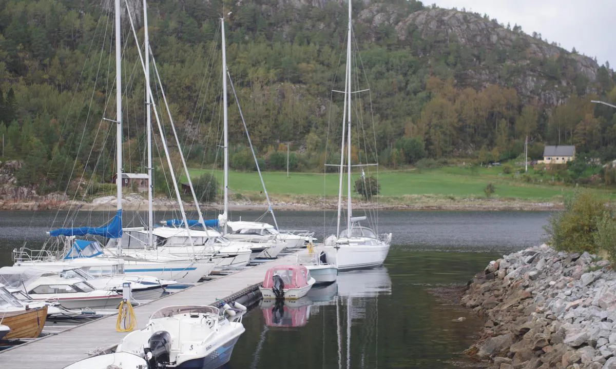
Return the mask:
[[10,328],[4,339],[37,338],[47,319],[47,305],[43,308],[0,312],[0,323]]

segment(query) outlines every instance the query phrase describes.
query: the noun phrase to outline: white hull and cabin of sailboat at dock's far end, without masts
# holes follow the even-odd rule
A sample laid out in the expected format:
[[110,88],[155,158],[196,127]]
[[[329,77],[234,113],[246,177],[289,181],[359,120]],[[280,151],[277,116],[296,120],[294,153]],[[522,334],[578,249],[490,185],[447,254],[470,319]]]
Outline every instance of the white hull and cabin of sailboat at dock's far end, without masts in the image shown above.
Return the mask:
[[376,236],[375,232],[359,224],[365,216],[351,218],[349,228],[339,237],[325,240],[326,258],[338,266],[338,271],[368,269],[383,265],[391,244],[391,233]]

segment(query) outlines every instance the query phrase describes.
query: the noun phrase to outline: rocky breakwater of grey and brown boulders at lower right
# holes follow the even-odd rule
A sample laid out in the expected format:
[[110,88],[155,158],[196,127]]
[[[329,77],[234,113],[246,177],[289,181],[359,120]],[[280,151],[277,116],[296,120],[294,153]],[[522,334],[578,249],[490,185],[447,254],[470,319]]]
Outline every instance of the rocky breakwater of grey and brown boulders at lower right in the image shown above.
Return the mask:
[[466,353],[491,368],[616,369],[616,272],[546,245],[491,261],[461,300],[485,317]]

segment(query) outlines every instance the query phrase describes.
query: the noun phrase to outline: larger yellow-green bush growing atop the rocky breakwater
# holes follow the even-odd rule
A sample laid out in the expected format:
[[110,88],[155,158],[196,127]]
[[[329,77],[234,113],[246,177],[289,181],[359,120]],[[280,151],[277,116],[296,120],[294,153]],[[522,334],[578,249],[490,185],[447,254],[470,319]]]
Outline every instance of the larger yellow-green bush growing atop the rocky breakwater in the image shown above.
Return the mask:
[[[606,218],[606,205],[588,190],[575,191],[565,199],[565,210],[549,218],[545,231],[550,237],[548,244],[559,251],[597,253],[598,242],[594,234],[598,224]],[[604,224],[607,236],[607,227]]]

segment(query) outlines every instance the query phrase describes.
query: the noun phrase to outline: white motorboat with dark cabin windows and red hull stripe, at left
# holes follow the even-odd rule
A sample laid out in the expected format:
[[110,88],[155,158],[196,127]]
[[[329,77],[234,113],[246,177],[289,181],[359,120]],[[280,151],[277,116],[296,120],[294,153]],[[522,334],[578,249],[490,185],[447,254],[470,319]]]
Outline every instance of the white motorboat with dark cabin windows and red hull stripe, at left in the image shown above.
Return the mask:
[[122,295],[98,290],[79,278],[64,278],[54,271],[31,268],[0,268],[0,282],[27,293],[33,301],[57,301],[67,309],[115,309]]

